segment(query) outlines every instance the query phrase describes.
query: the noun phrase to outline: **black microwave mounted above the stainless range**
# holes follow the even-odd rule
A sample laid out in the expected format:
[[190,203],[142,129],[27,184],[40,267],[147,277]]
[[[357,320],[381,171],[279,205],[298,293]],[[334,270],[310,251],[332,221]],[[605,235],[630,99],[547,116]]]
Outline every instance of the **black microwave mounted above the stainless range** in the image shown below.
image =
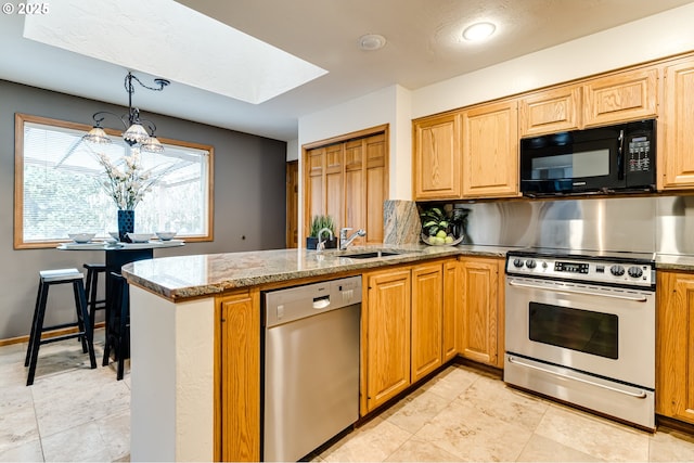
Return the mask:
[[520,140],[526,196],[655,190],[655,120]]

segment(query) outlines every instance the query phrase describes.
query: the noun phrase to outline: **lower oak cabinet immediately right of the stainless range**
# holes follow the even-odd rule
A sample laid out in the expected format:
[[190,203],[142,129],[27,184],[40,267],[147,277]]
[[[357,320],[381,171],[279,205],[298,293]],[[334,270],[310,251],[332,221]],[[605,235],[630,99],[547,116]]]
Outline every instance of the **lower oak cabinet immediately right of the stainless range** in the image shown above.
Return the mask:
[[694,273],[657,272],[656,413],[694,423]]

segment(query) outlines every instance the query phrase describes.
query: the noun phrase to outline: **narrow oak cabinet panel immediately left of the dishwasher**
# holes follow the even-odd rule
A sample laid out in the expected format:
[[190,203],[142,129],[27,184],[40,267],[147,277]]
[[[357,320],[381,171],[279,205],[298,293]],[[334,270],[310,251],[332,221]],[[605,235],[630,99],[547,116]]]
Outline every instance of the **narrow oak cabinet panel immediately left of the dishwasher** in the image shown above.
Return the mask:
[[[216,461],[260,461],[260,293],[217,299]],[[217,453],[216,452],[216,453]]]

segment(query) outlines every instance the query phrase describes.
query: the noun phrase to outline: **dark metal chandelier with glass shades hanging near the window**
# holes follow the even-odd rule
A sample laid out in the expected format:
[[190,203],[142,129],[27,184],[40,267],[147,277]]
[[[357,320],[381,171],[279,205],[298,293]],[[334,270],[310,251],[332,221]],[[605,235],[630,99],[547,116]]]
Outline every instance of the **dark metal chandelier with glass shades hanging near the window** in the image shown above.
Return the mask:
[[147,87],[142,83],[140,79],[133,76],[132,73],[128,73],[125,80],[125,88],[128,92],[128,114],[118,116],[107,111],[94,113],[92,116],[92,119],[94,119],[94,126],[82,137],[82,140],[99,144],[111,143],[111,139],[101,127],[101,123],[104,120],[105,116],[111,115],[117,117],[123,123],[123,127],[125,129],[123,132],[123,139],[130,146],[139,147],[141,151],[150,153],[162,153],[164,151],[164,146],[154,134],[156,131],[154,123],[149,119],[140,118],[140,110],[132,107],[132,93],[134,93],[134,87],[132,86],[133,80],[140,83],[143,88],[154,91],[162,91],[164,90],[164,87],[170,83],[166,79],[154,79],[154,83],[158,87]]

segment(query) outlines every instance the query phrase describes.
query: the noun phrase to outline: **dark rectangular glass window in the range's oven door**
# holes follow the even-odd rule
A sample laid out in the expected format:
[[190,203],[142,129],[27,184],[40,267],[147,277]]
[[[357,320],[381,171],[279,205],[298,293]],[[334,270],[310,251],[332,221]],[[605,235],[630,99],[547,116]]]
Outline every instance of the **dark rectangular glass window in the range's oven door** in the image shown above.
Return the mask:
[[530,303],[529,327],[537,343],[619,358],[619,318],[613,313]]

